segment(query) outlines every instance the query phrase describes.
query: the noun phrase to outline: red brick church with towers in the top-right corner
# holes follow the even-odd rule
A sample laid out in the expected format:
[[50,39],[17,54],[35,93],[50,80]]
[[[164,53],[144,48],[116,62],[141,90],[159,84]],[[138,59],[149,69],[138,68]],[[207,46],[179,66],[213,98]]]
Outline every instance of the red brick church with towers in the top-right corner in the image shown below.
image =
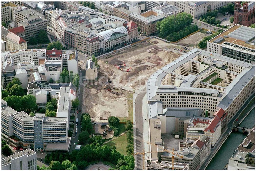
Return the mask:
[[250,26],[255,21],[254,2],[245,2],[241,7],[240,2],[235,2],[234,24]]

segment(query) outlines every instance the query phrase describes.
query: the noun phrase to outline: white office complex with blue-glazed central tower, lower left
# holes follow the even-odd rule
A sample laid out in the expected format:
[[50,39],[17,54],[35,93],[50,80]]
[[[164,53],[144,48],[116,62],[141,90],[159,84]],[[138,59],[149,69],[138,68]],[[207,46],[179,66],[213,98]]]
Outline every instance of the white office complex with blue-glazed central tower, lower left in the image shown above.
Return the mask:
[[68,120],[65,117],[46,117],[36,113],[30,116],[25,112],[17,112],[2,100],[2,138],[11,146],[22,146],[24,149],[44,149],[52,151],[69,151]]

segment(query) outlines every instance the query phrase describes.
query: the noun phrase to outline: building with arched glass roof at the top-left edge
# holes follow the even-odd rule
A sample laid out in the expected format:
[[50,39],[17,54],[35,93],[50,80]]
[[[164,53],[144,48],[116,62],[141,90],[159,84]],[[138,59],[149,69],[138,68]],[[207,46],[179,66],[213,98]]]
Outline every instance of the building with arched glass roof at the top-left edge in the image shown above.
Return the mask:
[[45,12],[47,10],[53,10],[54,9],[53,4],[45,4],[44,2],[39,2],[39,1],[24,1],[23,5],[25,7],[36,10],[38,13],[41,13],[44,16],[45,16]]

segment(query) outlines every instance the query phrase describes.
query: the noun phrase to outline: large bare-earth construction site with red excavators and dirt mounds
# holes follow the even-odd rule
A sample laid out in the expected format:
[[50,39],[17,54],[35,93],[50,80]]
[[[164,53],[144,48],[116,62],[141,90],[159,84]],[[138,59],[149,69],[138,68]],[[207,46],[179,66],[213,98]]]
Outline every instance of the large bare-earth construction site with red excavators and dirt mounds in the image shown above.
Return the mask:
[[99,58],[99,79],[85,90],[86,113],[95,122],[110,116],[128,117],[132,105],[128,96],[143,89],[152,73],[181,55],[172,52],[174,47],[177,45],[150,39]]

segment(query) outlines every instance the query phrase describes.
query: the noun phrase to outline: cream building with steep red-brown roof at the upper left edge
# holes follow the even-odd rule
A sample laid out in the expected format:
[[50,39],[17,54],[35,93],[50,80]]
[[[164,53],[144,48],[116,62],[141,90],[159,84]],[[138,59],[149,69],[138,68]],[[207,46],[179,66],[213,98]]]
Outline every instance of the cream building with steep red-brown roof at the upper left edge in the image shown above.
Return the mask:
[[27,42],[19,37],[18,35],[10,32],[7,30],[4,26],[2,26],[2,40],[6,41],[6,50],[7,51],[14,51],[17,49],[26,49],[27,48]]

